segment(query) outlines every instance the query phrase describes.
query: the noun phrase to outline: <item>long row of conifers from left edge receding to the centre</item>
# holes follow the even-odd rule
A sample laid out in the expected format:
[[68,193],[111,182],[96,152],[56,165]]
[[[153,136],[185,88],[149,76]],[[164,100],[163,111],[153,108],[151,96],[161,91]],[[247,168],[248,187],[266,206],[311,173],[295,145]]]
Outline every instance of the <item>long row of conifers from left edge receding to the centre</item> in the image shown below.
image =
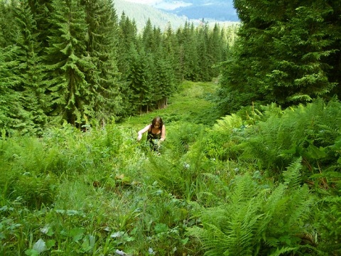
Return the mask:
[[0,129],[39,133],[160,108],[182,80],[208,81],[226,30],[185,23],[142,33],[110,0],[0,1]]

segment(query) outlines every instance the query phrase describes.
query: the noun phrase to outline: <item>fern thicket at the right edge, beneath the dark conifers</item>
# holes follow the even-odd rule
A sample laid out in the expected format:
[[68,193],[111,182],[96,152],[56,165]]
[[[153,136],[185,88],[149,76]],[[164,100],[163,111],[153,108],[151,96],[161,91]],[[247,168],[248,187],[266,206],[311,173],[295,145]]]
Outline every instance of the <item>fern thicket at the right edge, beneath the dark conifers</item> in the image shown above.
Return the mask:
[[340,140],[339,117],[340,102],[335,100],[327,104],[315,100],[306,107],[285,110],[280,117],[271,115],[246,129],[239,146],[241,157],[271,169],[271,175],[280,173],[297,156],[303,157],[305,175],[321,169],[339,171],[340,153],[335,147]]

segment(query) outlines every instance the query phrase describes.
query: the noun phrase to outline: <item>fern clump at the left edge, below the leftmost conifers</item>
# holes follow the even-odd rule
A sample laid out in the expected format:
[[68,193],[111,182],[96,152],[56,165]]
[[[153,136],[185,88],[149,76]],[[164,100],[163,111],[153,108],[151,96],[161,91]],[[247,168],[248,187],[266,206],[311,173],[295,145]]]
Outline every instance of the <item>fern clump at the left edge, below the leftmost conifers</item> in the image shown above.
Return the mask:
[[[58,154],[45,151],[37,139],[1,142],[0,190],[4,198],[21,202],[30,209],[50,206],[57,191],[53,161]],[[53,156],[51,156],[53,152]],[[4,171],[6,169],[6,171]]]

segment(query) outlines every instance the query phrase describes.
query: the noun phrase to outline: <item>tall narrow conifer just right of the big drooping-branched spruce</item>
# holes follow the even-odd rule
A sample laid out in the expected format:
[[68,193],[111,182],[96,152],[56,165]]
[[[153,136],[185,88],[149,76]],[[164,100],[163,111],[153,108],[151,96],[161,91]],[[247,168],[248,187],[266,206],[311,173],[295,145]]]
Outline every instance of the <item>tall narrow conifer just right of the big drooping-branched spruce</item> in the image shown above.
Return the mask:
[[[118,21],[109,0],[84,0],[88,25],[87,54],[96,68],[86,73],[97,119],[122,112],[117,69]],[[91,105],[91,102],[88,102]]]

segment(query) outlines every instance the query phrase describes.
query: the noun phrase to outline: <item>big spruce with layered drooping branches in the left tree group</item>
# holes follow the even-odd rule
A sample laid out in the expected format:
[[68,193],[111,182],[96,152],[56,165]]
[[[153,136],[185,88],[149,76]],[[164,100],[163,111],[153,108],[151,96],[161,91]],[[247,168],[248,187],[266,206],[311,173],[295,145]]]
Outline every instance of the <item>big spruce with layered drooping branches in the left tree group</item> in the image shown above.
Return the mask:
[[51,114],[70,124],[82,124],[94,117],[94,95],[86,73],[96,67],[86,54],[87,23],[79,0],[53,0],[50,23],[53,36],[48,41],[45,59],[50,75]]

